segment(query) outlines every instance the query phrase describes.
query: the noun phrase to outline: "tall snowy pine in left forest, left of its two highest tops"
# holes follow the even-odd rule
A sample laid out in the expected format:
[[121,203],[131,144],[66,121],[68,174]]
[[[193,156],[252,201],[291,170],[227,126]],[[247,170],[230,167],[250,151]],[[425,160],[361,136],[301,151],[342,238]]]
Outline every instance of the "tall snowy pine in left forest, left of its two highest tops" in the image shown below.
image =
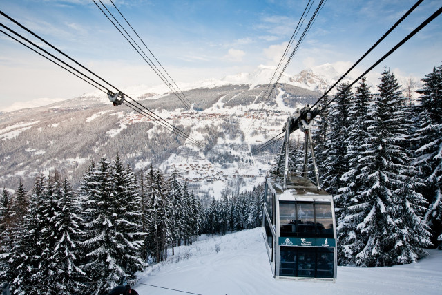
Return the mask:
[[83,255],[86,263],[81,270],[90,281],[90,294],[108,292],[121,276],[129,276],[119,265],[120,252],[115,236],[115,174],[111,163],[101,158],[95,169],[90,167],[81,182],[79,192],[84,199],[85,223]]

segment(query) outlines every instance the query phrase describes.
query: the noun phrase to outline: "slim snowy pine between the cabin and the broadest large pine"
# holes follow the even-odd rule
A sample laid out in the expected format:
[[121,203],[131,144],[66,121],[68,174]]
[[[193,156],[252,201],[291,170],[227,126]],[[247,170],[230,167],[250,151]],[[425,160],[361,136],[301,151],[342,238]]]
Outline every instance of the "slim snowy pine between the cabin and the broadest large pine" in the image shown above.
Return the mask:
[[372,94],[364,77],[356,87],[354,99],[348,110],[349,128],[345,139],[347,153],[344,156],[348,162],[348,171],[341,176],[340,182],[343,183],[343,187],[338,190],[340,203],[346,204],[339,208],[340,214],[336,228],[339,265],[354,265],[356,254],[362,250],[361,240],[358,240],[356,236],[356,226],[362,220],[358,220],[358,198],[355,196],[363,190],[363,180],[358,178],[362,167],[358,161],[362,157],[365,139],[368,137],[366,116],[371,100]]

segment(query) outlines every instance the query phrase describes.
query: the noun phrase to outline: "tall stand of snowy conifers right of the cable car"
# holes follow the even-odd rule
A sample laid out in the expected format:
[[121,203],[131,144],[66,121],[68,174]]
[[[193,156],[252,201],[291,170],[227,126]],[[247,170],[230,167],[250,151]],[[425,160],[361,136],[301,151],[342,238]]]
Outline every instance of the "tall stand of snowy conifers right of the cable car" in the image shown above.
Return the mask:
[[422,79],[416,101],[387,68],[380,80],[378,93],[365,79],[354,92],[341,84],[316,121],[340,265],[414,263],[424,247],[442,249],[442,66]]

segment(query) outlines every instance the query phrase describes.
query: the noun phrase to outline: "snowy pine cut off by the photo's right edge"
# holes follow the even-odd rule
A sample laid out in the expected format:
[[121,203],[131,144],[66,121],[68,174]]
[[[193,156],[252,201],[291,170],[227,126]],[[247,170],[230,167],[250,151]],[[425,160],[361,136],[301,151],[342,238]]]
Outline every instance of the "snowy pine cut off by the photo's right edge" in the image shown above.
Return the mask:
[[442,250],[442,65],[425,75],[417,91],[415,140],[416,166],[425,182],[423,196],[429,203],[425,222],[431,227],[432,243]]

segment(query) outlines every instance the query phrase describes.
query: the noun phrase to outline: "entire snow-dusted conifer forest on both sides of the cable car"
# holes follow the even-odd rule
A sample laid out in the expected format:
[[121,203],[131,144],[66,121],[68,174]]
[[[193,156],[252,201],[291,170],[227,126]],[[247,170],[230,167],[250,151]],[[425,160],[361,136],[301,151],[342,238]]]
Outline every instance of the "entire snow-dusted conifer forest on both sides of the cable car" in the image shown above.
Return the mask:
[[[415,263],[425,248],[442,249],[442,65],[422,82],[407,91],[384,68],[376,93],[361,79],[316,117],[339,265]],[[302,143],[292,146],[296,166]],[[116,155],[90,162],[77,187],[53,171],[1,192],[0,280],[13,294],[106,294],[203,234],[262,225],[264,184],[203,206],[177,170],[133,171]]]

